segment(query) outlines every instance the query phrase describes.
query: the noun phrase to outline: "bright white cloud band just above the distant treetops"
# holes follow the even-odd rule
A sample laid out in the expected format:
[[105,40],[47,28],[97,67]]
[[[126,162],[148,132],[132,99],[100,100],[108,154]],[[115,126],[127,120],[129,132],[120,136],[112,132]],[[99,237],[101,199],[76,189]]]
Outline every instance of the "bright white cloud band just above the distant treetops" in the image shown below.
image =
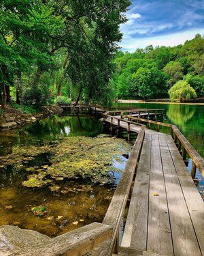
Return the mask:
[[177,44],[184,44],[186,40],[191,40],[197,33],[204,34],[204,29],[192,29],[188,31],[172,33],[169,35],[159,35],[151,38],[124,38],[120,43],[122,51],[134,52],[136,48],[145,48],[152,44],[155,46],[176,46]]

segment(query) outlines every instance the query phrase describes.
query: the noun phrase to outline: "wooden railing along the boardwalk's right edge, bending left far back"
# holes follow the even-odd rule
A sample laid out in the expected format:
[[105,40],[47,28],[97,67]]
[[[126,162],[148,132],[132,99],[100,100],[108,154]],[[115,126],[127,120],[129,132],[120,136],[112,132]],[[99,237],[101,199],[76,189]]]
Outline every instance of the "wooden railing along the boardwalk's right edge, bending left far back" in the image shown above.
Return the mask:
[[[135,120],[136,122],[146,123],[149,124],[149,128],[151,124],[156,124],[158,126],[158,130],[160,126],[166,126],[171,128],[171,135],[174,139],[175,145],[177,145],[177,149],[182,154],[183,160],[186,162],[187,154],[192,159],[192,168],[191,168],[191,176],[192,178],[195,177],[197,169],[199,169],[201,175],[204,177],[204,160],[199,155],[199,153],[194,149],[194,147],[190,144],[188,139],[184,137],[182,132],[177,128],[177,126],[172,124],[165,124],[163,122],[156,122],[154,120],[150,119],[144,119],[139,117],[131,117],[131,115],[124,115],[124,118],[127,118],[128,120]],[[182,150],[183,147],[183,150]]]

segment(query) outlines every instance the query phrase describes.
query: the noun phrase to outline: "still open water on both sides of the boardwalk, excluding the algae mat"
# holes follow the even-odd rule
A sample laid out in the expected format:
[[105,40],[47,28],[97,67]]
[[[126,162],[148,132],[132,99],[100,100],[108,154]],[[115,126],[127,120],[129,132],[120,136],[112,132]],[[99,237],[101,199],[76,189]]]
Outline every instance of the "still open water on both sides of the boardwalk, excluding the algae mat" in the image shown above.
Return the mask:
[[[143,103],[116,104],[116,106],[165,109],[163,122],[175,124],[204,157],[204,106]],[[160,131],[169,132],[167,128]],[[38,152],[37,150],[40,151],[41,148],[55,148],[66,138],[97,138],[104,133],[101,122],[92,117],[53,116],[16,130],[1,131],[0,156],[6,158],[15,152],[19,152],[20,156],[19,150],[22,149],[26,149],[29,156],[33,154],[33,150]],[[100,143],[103,143],[103,136]],[[129,154],[131,147],[126,145],[128,143],[122,144],[120,139],[117,143],[123,152]],[[44,150],[41,154],[35,154],[31,160],[21,158],[21,162],[12,162],[7,167],[3,167],[0,162],[0,225],[18,225],[18,227],[33,229],[54,237],[94,221],[103,221],[124,170],[126,158],[122,154],[113,156],[112,167],[116,167],[117,171],[112,171],[114,182],[105,186],[82,179],[58,181],[55,185],[65,188],[63,190],[66,190],[66,193],[50,191],[48,187],[22,186],[29,176],[27,167],[46,168],[52,165],[51,159],[52,153]],[[197,177],[200,179],[199,190],[203,195],[204,181],[199,171],[197,171]],[[35,215],[32,210],[39,205],[46,206],[46,212],[42,216]]]

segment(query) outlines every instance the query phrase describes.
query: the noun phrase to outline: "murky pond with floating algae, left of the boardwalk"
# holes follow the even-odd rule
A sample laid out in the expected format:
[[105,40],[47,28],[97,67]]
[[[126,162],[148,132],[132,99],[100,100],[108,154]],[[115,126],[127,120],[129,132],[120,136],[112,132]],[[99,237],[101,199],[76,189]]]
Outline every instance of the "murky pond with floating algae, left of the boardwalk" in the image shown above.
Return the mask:
[[50,237],[102,222],[131,152],[86,116],[0,132],[0,225]]

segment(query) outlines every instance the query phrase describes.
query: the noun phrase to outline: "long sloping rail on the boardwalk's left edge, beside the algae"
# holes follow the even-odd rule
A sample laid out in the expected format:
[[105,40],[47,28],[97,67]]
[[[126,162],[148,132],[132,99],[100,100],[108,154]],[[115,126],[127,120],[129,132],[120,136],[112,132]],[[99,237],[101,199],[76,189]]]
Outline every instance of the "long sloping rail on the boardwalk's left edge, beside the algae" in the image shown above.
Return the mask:
[[131,184],[135,174],[137,162],[139,161],[144,135],[145,126],[143,125],[139,131],[133,146],[133,150],[129,156],[129,160],[126,162],[126,167],[122,173],[122,177],[116,188],[114,197],[112,198],[109,208],[105,214],[105,218],[103,219],[103,224],[113,227],[112,239],[109,242],[109,246],[106,248],[107,251],[104,253],[106,256],[112,255],[113,251],[114,253],[118,252],[120,223],[126,207],[126,201],[130,194]]

